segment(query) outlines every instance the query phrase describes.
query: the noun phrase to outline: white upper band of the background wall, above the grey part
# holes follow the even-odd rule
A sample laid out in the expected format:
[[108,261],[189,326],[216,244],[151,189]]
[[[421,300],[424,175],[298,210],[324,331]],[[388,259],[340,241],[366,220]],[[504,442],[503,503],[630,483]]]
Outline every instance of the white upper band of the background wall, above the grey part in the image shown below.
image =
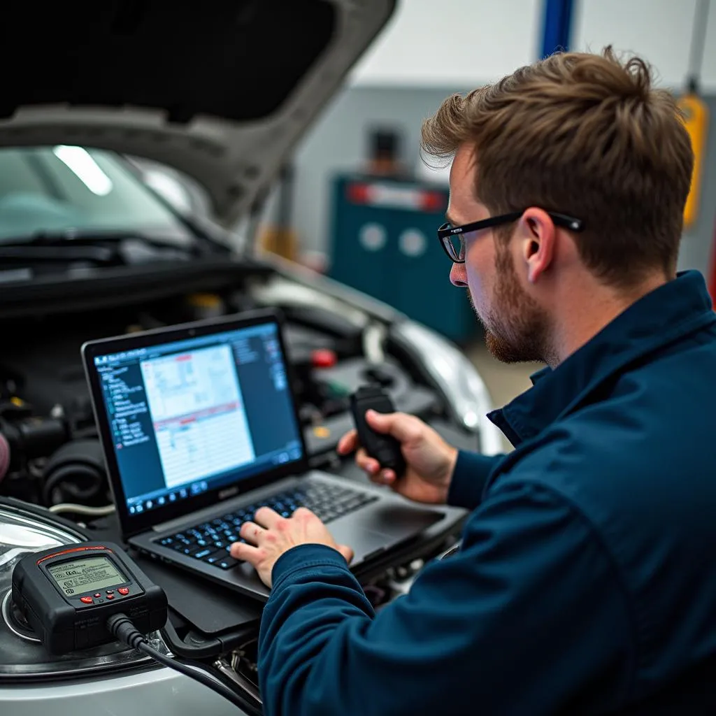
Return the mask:
[[[697,0],[576,0],[572,49],[607,44],[641,54],[662,84],[682,87]],[[703,80],[716,89],[716,2]],[[362,86],[473,89],[537,59],[544,0],[399,0],[390,24],[354,68]]]

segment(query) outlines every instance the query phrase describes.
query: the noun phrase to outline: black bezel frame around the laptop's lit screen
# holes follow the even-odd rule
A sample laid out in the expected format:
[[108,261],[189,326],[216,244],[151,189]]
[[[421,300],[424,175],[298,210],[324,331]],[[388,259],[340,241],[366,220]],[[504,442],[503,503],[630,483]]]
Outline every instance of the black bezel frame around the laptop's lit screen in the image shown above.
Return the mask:
[[[120,470],[117,463],[117,455],[115,455],[114,443],[112,441],[112,431],[110,421],[107,417],[105,408],[105,400],[102,395],[102,384],[100,382],[100,374],[95,366],[95,357],[107,353],[116,353],[137,348],[147,348],[157,346],[163,343],[172,343],[175,341],[183,341],[186,339],[211,336],[212,334],[225,333],[228,331],[241,330],[265,323],[276,324],[276,337],[279,340],[281,354],[284,357],[284,367],[286,369],[286,381],[293,406],[294,420],[299,428],[299,440],[301,445],[301,458],[293,460],[290,463],[276,465],[276,468],[263,471],[259,475],[249,478],[242,478],[237,483],[229,483],[221,485],[221,487],[206,490],[203,493],[178,500],[175,503],[167,503],[162,507],[155,508],[151,511],[131,515],[127,510],[127,501],[125,490],[120,479]],[[89,341],[82,346],[82,363],[84,364],[84,372],[89,384],[89,395],[92,400],[92,410],[95,413],[95,422],[97,429],[100,431],[100,439],[102,442],[102,452],[105,455],[105,465],[107,467],[107,477],[109,478],[112,497],[117,507],[117,517],[122,528],[122,537],[127,538],[138,533],[147,531],[148,529],[164,522],[175,520],[177,518],[188,515],[211,505],[216,505],[222,500],[242,495],[256,488],[280,480],[289,475],[304,473],[309,469],[308,454],[306,452],[306,440],[304,431],[301,428],[301,420],[299,417],[299,406],[296,405],[294,392],[294,375],[292,371],[289,355],[286,353],[286,345],[284,341],[284,316],[278,309],[262,309],[258,311],[246,311],[231,316],[223,316],[217,319],[206,319],[203,321],[193,321],[191,323],[180,324],[177,326],[165,326],[163,328],[152,329],[140,333],[127,334],[125,336],[117,336],[112,338],[99,339]],[[237,487],[238,491],[231,488]]]

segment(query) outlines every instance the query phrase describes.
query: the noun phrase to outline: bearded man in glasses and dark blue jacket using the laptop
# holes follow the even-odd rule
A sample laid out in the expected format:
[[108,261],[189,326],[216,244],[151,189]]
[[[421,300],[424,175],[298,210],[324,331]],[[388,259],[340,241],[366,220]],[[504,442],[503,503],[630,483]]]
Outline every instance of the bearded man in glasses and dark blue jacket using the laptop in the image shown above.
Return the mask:
[[273,584],[266,713],[716,712],[716,317],[676,276],[692,150],[672,97],[639,59],[558,54],[450,97],[423,144],[454,154],[451,281],[496,357],[547,367],[490,416],[506,456],[369,414],[408,464],[358,450],[372,479],[472,510],[378,614],[308,511],[244,526],[232,554]]

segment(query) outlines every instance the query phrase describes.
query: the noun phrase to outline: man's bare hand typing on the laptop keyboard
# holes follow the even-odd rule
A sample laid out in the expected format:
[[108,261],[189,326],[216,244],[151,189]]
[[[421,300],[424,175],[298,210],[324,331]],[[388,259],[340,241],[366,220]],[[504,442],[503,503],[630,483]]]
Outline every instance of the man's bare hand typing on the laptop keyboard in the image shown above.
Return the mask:
[[291,517],[281,517],[268,507],[256,510],[255,522],[241,526],[246,542],[231,545],[231,556],[243,559],[256,567],[258,576],[271,587],[271,571],[278,558],[299,544],[324,544],[339,551],[350,563],[353,550],[336,544],[324,523],[305,507],[299,507]]

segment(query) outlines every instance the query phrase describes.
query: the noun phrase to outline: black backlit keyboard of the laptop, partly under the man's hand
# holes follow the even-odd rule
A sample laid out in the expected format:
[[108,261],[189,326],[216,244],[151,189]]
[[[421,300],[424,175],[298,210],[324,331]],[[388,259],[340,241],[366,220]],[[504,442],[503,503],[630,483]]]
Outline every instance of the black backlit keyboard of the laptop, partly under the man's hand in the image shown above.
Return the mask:
[[260,507],[270,507],[284,517],[290,517],[299,507],[306,507],[327,524],[377,499],[375,495],[341,485],[309,481],[299,488],[286,490],[216,519],[185,528],[158,540],[158,543],[219,569],[231,569],[238,564],[238,560],[229,554],[231,544],[244,541],[238,534],[241,525],[251,522],[253,514]]

